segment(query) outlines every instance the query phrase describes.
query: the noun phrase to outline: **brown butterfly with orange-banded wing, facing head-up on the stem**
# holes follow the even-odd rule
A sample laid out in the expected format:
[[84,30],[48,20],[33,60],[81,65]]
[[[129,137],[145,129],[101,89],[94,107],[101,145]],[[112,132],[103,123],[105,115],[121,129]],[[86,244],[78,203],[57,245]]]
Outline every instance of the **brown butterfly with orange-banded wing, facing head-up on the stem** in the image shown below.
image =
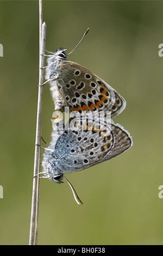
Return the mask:
[[[84,36],[88,31],[89,29]],[[50,84],[55,110],[70,107],[71,111],[79,113],[110,111],[111,117],[120,114],[126,107],[123,97],[84,66],[67,61],[71,52],[66,56],[65,51],[66,49],[59,48],[54,53],[49,52],[52,55],[47,55],[45,77],[46,83]]]

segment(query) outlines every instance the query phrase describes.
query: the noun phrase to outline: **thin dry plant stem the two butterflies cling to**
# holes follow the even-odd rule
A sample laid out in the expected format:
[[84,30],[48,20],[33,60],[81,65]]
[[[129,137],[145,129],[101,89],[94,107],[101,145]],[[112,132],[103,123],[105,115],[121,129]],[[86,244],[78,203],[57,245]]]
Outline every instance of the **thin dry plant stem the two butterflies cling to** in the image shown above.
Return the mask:
[[[46,40],[46,24],[42,24],[42,0],[39,1],[40,10],[40,72],[39,72],[39,85],[43,83],[43,69],[45,53],[45,40]],[[29,245],[37,244],[38,234],[38,220],[39,220],[39,194],[40,194],[40,156],[41,148],[41,108],[42,108],[42,91],[43,87],[39,86],[38,102],[37,102],[37,121],[36,121],[36,139],[35,139],[35,159],[34,159],[34,176],[33,179],[33,194],[32,194],[32,209],[30,218],[30,234],[29,234]]]

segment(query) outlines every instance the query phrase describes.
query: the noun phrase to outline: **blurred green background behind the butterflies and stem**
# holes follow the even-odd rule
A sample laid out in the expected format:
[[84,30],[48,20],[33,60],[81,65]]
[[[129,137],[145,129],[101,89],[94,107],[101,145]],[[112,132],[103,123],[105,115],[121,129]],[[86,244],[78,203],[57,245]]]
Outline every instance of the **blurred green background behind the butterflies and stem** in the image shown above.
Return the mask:
[[[114,118],[134,145],[111,161],[67,174],[68,184],[41,179],[39,245],[162,245],[163,2],[43,1],[46,50],[90,69],[127,101]],[[0,2],[1,245],[28,244],[32,201],[37,93],[39,1]],[[54,105],[43,88],[42,136],[51,139]],[[43,151],[42,151],[43,153]]]

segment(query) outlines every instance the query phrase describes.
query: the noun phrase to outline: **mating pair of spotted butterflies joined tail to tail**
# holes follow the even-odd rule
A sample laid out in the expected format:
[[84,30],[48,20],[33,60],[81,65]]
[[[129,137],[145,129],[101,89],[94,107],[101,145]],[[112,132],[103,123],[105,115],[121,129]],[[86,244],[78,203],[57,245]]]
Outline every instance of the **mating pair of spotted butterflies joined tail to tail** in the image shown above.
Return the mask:
[[[120,114],[126,101],[84,66],[67,61],[65,51],[59,48],[48,56],[45,78],[50,84],[55,110],[69,107],[79,115],[68,120],[66,129],[60,117],[52,120],[52,141],[43,155],[42,174],[43,178],[59,183],[64,178],[80,204],[82,201],[63,175],[112,159],[129,149],[133,142],[121,125],[112,120],[108,123],[106,119],[106,113],[110,113],[111,118]],[[99,118],[102,111],[105,113],[103,119]],[[100,125],[96,127],[96,123]],[[82,124],[85,129],[81,129]]]

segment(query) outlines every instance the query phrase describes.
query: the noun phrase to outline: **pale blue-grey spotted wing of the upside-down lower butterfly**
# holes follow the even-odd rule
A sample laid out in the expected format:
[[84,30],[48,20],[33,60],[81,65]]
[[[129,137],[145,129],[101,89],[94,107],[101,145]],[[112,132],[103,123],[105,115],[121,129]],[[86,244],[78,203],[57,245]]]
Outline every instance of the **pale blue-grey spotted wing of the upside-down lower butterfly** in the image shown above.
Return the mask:
[[[82,123],[85,119],[82,119]],[[106,132],[96,129],[95,123],[92,123],[90,130],[89,121],[86,120],[85,130],[71,128],[58,138],[54,149],[55,168],[59,173],[77,172],[112,159],[131,145],[132,139],[122,126],[111,123]]]

